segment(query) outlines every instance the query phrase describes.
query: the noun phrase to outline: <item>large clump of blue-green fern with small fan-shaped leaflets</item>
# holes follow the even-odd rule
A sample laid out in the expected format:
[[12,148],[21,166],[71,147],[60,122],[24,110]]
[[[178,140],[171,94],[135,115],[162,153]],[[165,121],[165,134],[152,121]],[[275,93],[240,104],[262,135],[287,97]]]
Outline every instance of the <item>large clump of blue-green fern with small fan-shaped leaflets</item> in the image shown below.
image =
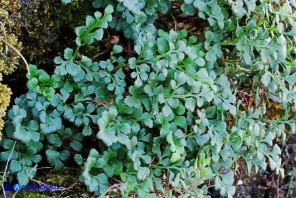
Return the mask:
[[[207,197],[213,182],[232,197],[242,164],[284,175],[278,145],[296,120],[293,3],[93,6],[104,12],[75,28],[77,46],[55,58],[52,74],[30,65],[28,92],[8,113],[1,160],[11,154],[19,183],[28,183],[42,160],[55,170],[75,161],[80,181],[97,195],[120,180],[122,196]],[[154,26],[160,12],[173,11],[174,23],[174,14],[193,15],[206,27]],[[88,57],[85,49],[102,42],[108,27],[134,47],[116,43],[106,58]],[[277,120],[264,116],[270,99],[284,108]]]

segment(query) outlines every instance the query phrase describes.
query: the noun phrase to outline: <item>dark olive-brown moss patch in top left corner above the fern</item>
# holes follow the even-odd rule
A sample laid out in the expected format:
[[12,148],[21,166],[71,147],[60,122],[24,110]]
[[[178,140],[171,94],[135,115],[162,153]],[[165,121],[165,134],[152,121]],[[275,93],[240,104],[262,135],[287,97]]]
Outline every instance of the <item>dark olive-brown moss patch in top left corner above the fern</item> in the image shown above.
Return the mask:
[[74,45],[73,29],[92,13],[91,1],[64,5],[54,1],[20,1],[13,12],[14,29],[23,43],[28,62],[48,68],[57,52]]

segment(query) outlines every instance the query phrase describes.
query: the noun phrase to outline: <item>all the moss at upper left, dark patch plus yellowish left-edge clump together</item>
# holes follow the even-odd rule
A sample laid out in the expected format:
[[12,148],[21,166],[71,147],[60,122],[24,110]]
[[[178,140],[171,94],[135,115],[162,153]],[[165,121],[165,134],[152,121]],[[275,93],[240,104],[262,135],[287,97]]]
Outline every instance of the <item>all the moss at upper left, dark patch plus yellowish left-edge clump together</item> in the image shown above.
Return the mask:
[[[65,45],[59,41],[62,37],[60,32],[81,24],[91,9],[89,1],[73,1],[71,5],[62,6],[60,1],[1,0],[0,82],[3,81],[3,75],[12,74],[17,69],[21,73],[20,69],[25,69],[20,53],[28,60],[43,66],[52,63],[54,55],[51,50],[55,51]],[[73,11],[76,11],[75,14]],[[63,38],[67,40],[67,35]],[[22,42],[26,45],[22,45]],[[71,42],[66,45],[69,43]],[[55,46],[56,49],[48,49],[50,46]],[[10,79],[4,79],[3,83],[18,83],[18,76],[11,75]],[[10,88],[4,84],[0,84],[0,131],[4,123],[2,118],[12,94]]]

